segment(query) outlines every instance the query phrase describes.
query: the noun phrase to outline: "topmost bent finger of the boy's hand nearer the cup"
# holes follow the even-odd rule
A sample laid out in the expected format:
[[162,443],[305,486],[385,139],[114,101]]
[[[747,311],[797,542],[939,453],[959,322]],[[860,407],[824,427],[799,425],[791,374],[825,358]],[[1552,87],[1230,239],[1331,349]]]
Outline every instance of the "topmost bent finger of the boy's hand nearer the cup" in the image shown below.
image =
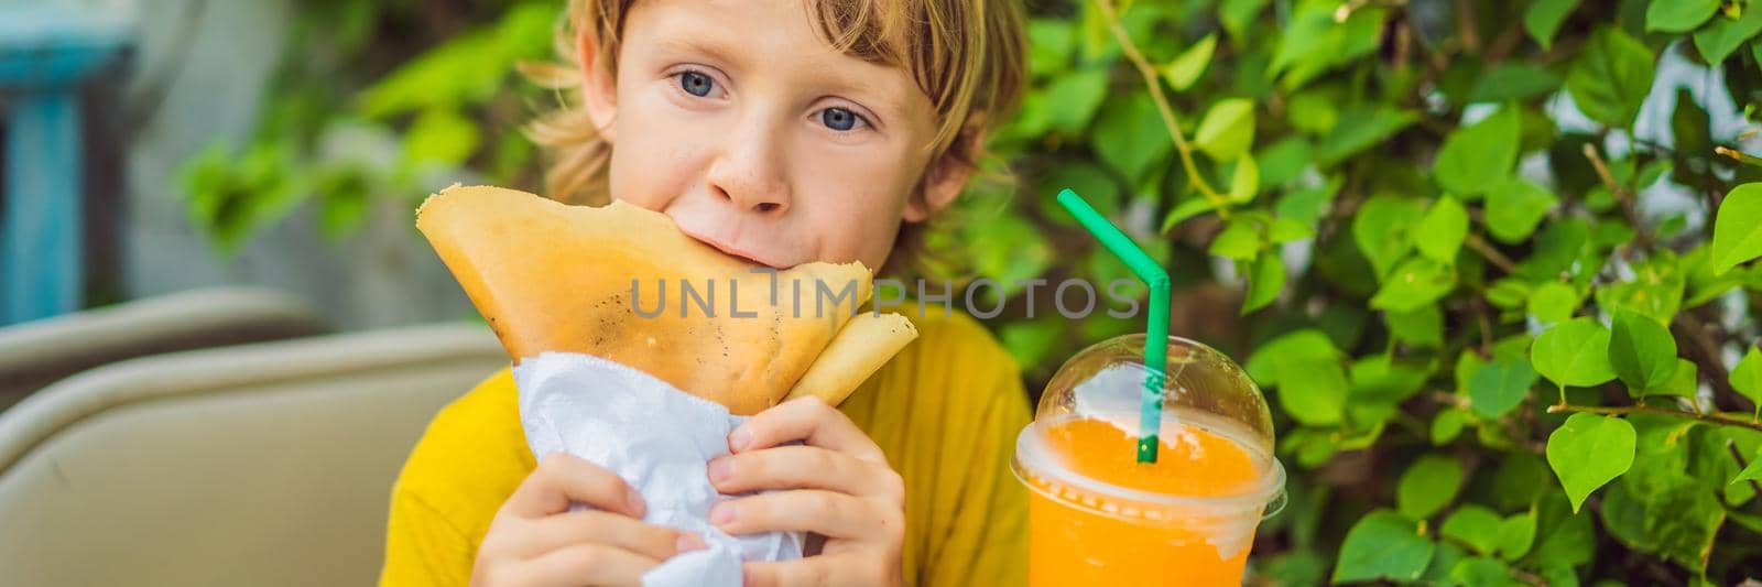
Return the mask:
[[758,412],[728,435],[735,453],[805,441],[867,462],[886,464],[886,455],[844,412],[818,397],[802,397]]

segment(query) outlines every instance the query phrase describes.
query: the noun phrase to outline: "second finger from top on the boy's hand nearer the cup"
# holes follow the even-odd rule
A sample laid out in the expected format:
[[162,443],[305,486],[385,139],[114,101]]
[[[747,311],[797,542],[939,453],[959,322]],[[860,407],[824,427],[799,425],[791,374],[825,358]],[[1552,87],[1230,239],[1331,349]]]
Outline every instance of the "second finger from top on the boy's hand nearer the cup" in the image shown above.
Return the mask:
[[904,494],[893,469],[818,446],[775,446],[717,457],[707,472],[710,485],[722,494],[788,488],[876,497]]

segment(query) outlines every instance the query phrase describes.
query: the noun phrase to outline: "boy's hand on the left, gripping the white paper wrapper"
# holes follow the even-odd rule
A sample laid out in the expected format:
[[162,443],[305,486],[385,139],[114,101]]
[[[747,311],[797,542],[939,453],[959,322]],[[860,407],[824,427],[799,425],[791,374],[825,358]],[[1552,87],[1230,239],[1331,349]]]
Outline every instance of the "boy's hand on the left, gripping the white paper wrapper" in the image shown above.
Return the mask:
[[[599,509],[569,511],[571,502]],[[615,472],[553,453],[502,502],[478,548],[472,585],[640,585],[661,561],[703,548],[643,524],[643,499]]]

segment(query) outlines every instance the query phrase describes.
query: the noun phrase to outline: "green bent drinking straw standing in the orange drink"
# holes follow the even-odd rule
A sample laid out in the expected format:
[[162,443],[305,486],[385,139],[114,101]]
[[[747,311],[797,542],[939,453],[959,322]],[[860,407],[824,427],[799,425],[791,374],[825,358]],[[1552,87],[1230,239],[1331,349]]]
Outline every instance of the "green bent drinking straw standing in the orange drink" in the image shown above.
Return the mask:
[[1061,190],[1059,204],[1151,286],[1151,317],[1144,328],[1144,367],[1149,374],[1138,395],[1138,462],[1156,462],[1156,434],[1163,430],[1163,370],[1168,367],[1168,271],[1077,192]]

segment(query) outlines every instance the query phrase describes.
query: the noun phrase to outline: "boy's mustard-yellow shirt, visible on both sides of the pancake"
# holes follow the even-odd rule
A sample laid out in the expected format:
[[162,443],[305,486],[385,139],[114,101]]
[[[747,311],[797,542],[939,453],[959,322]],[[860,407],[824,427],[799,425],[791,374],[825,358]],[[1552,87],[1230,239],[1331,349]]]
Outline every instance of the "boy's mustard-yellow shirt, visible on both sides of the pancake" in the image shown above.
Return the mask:
[[[1029,421],[1018,368],[971,317],[934,305],[907,317],[918,340],[839,405],[906,479],[906,582],[1025,583],[1027,492],[1010,472]],[[470,582],[490,518],[534,467],[518,412],[506,368],[440,409],[391,490],[381,585]]]

